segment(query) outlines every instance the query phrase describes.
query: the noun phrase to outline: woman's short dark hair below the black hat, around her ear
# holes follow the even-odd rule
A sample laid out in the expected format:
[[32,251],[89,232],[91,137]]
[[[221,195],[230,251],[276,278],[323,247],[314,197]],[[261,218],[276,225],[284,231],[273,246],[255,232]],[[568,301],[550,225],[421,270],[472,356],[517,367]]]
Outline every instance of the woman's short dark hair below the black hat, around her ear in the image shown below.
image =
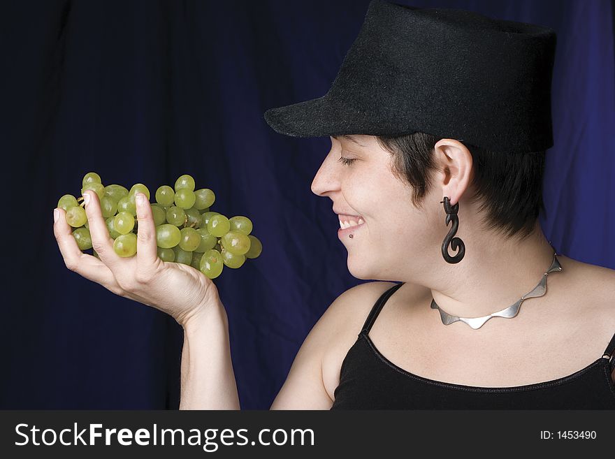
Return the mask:
[[[380,145],[393,155],[393,173],[412,187],[412,202],[417,207],[422,207],[431,188],[432,172],[436,169],[433,152],[440,138],[421,132],[377,137]],[[476,194],[471,200],[480,201],[479,210],[486,211],[484,228],[502,233],[506,238],[528,238],[540,210],[545,211],[542,201],[545,151],[503,154],[459,141],[472,154],[472,185]]]

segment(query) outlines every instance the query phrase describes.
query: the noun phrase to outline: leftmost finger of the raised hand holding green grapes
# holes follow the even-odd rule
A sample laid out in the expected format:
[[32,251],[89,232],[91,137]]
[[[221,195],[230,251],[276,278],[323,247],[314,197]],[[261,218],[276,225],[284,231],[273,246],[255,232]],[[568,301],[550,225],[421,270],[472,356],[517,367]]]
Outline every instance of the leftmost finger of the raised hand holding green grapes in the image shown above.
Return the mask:
[[57,212],[57,218],[53,224],[53,233],[66,268],[108,289],[115,286],[115,277],[109,268],[98,258],[84,254],[79,249],[77,241],[73,238],[73,228],[66,223],[64,209],[55,209],[54,212]]

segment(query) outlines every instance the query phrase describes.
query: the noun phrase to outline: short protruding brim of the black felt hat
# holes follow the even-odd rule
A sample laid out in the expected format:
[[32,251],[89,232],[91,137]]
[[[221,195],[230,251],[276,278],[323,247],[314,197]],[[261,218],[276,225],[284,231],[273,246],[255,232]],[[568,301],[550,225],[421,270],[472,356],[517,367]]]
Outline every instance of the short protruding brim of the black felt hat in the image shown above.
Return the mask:
[[291,137],[335,136],[347,131],[346,122],[327,96],[271,108],[265,120],[274,131]]

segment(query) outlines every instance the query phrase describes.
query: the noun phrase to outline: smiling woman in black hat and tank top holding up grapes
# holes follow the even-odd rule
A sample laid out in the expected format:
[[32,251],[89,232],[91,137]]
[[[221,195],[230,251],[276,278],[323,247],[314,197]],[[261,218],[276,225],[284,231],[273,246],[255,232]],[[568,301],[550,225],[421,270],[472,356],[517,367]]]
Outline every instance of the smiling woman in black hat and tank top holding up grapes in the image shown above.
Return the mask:
[[[556,254],[537,220],[554,51],[545,27],[374,1],[326,96],[266,113],[331,137],[312,191],[340,217],[348,268],[401,281],[337,298],[272,409],[615,408],[615,273]],[[57,209],[67,267],[182,325],[180,408],[238,409],[215,285],[157,257],[145,196],[129,259],[85,199],[100,260]]]

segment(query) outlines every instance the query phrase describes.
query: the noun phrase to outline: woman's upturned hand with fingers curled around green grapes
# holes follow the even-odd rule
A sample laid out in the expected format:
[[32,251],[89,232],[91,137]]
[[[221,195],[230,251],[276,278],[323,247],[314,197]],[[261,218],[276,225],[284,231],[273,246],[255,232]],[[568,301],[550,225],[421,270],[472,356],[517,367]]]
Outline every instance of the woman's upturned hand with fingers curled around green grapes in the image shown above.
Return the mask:
[[54,210],[53,231],[66,268],[101,284],[116,295],[155,307],[185,328],[188,321],[208,306],[219,303],[215,284],[200,271],[158,257],[152,207],[144,194],[136,196],[137,254],[129,258],[113,250],[98,196],[85,191],[85,210],[92,235],[92,247],[100,258],[80,251],[73,228],[66,223],[63,209]]

